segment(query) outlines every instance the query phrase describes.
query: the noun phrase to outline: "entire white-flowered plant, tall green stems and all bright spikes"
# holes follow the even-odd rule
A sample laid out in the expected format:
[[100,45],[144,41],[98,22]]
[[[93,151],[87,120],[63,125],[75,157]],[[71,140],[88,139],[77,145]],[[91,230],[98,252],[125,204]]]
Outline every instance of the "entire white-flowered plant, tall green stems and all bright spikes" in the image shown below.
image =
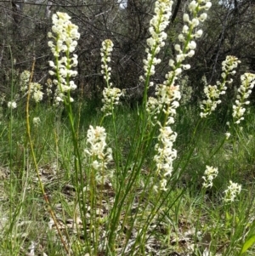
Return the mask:
[[[124,153],[118,143],[115,112],[124,92],[115,88],[111,82],[111,52],[114,43],[111,39],[106,39],[100,51],[101,72],[106,82],[101,109],[104,116],[99,126],[89,126],[87,146],[82,148],[77,138],[71,107],[74,101],[71,91],[77,88],[72,80],[72,77],[77,76],[77,54],[74,52],[80,34],[68,14],[58,12],[53,15],[54,25],[52,32],[48,33],[48,46],[54,54],[54,60],[49,61],[52,68],[50,75],[54,77],[53,84],[56,88],[55,104],[65,105],[70,121],[74,159],[74,173],[71,178],[76,188],[77,214],[82,219],[82,230],[79,232],[84,237],[84,246],[89,255],[147,254],[147,243],[155,236],[153,230],[173,207],[175,201],[167,203],[167,206],[164,203],[180,178],[180,175],[174,175],[176,169],[173,166],[178,156],[174,149],[178,134],[173,131],[173,123],[181,99],[177,81],[184,70],[190,69],[188,60],[195,54],[195,40],[202,36],[200,25],[207,19],[206,11],[211,5],[209,0],[190,2],[188,13],[183,17],[183,29],[178,35],[179,43],[174,45],[178,54],[169,60],[165,81],[154,84],[151,77],[156,73],[156,65],[161,62],[157,55],[167,40],[165,30],[173,6],[171,0],[156,1],[155,14],[150,20],[150,38],[146,42],[146,58],[143,60],[144,75],[139,77],[144,83],[143,105],[138,111],[130,147]],[[219,97],[225,93],[226,84],[231,82],[228,77],[235,73],[238,62],[235,57],[228,56],[223,63],[223,81],[217,82],[215,86],[207,85],[204,89],[207,100],[201,103],[201,120],[208,117],[220,103]],[[249,103],[246,98],[251,93],[254,76],[245,74],[241,81],[242,85],[233,107],[235,123],[243,118],[243,105]],[[148,97],[150,87],[155,87],[155,97]],[[105,118],[111,118],[113,122],[111,145],[103,126]],[[229,133],[226,134],[226,139],[228,137]],[[148,159],[150,151],[153,151],[154,156]],[[191,152],[192,150],[190,154]],[[187,162],[189,159],[188,157]],[[218,168],[207,166],[202,177],[203,186],[212,187],[212,180],[217,175]],[[105,187],[112,191],[111,196],[105,194]],[[241,186],[231,182],[225,191],[225,201],[233,201],[240,191]],[[181,195],[182,193],[178,196]],[[62,242],[65,244],[63,239]],[[71,253],[66,244],[65,248]]]

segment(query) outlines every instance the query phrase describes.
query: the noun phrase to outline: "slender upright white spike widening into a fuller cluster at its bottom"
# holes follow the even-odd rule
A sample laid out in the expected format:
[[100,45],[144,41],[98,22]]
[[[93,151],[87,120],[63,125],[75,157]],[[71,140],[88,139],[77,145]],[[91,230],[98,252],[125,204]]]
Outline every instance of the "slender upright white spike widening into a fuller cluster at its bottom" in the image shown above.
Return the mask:
[[101,48],[101,61],[102,61],[102,70],[101,73],[104,75],[104,79],[106,81],[107,87],[104,88],[103,91],[103,107],[101,111],[105,112],[105,116],[111,115],[111,111],[114,109],[114,105],[119,104],[120,97],[123,95],[123,92],[119,88],[112,88],[111,79],[111,66],[109,63],[111,62],[111,52],[113,49],[113,43],[110,39],[106,39],[102,43]]

